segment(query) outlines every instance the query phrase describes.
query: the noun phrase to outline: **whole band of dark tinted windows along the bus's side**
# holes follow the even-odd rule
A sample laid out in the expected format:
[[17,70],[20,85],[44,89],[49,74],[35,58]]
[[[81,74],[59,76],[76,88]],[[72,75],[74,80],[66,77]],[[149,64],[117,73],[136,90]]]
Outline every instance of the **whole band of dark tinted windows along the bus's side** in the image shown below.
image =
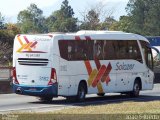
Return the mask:
[[132,40],[60,40],[62,58],[75,60],[134,59],[142,61],[137,41]]

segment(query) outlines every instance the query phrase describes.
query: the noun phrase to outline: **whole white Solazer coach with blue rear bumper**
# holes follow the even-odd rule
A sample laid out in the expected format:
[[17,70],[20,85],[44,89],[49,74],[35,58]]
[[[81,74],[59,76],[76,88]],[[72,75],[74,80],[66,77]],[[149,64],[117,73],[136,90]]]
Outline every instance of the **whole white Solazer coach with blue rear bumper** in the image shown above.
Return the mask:
[[41,100],[86,94],[139,96],[153,89],[153,57],[143,36],[114,31],[17,35],[13,89]]

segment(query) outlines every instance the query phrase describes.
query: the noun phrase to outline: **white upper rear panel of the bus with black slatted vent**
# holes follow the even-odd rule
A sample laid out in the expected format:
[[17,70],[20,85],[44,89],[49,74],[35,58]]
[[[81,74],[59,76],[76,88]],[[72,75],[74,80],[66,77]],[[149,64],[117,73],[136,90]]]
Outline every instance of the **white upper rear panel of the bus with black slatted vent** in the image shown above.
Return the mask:
[[[49,36],[16,36],[14,40],[13,67],[16,67],[19,84],[47,86],[52,66],[51,47],[53,46],[51,44],[52,41]],[[41,59],[46,59],[47,61]],[[33,62],[33,64],[31,65],[30,62]],[[45,63],[46,65],[43,65],[44,62],[47,62]]]

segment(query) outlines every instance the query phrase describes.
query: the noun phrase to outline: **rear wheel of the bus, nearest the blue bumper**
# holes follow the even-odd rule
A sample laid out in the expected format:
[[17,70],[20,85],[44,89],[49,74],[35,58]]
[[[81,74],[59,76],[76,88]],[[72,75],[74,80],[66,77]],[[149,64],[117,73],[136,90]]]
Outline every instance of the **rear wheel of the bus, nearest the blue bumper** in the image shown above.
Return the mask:
[[77,92],[77,100],[79,102],[83,102],[86,97],[86,86],[83,82],[81,82],[78,86],[78,92]]

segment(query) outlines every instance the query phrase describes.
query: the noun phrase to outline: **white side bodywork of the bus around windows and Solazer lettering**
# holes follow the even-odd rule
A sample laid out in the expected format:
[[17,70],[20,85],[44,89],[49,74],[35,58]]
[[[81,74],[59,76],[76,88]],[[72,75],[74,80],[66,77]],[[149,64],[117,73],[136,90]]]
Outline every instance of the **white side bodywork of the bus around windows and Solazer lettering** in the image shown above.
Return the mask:
[[[73,35],[64,35],[64,40],[74,40],[75,36]],[[90,35],[93,40],[139,40],[142,39],[147,41],[141,36],[131,35],[131,34],[118,34],[118,35]],[[81,39],[85,39],[85,36],[80,35]],[[106,39],[107,38],[107,39]],[[139,46],[141,47],[141,46]],[[140,50],[142,50],[140,48]],[[144,58],[143,58],[144,59]],[[109,74],[111,81],[106,84],[101,82],[102,89],[104,92],[126,92],[132,91],[134,81],[136,78],[140,78],[142,81],[142,90],[153,89],[153,77],[154,74],[149,68],[145,65],[145,63],[140,63],[136,60],[100,60],[101,65],[107,66],[108,63],[111,63],[112,70]],[[92,69],[97,69],[94,60],[90,60],[90,64]],[[133,65],[131,70],[117,70],[118,66],[125,65]],[[63,70],[59,72],[59,76],[62,78],[59,81],[62,89],[64,86],[64,91],[61,90],[60,95],[76,95],[78,90],[78,85],[81,80],[88,81],[89,75],[87,74],[86,66],[84,61],[66,61],[64,59],[60,59],[60,68]],[[127,69],[127,68],[126,68]],[[68,76],[68,77],[67,77]],[[150,78],[150,77],[152,78]],[[64,81],[63,81],[64,80]],[[94,94],[98,93],[97,87],[92,87],[88,85],[88,93]],[[68,89],[67,89],[68,88]],[[63,92],[62,92],[63,91]]]

